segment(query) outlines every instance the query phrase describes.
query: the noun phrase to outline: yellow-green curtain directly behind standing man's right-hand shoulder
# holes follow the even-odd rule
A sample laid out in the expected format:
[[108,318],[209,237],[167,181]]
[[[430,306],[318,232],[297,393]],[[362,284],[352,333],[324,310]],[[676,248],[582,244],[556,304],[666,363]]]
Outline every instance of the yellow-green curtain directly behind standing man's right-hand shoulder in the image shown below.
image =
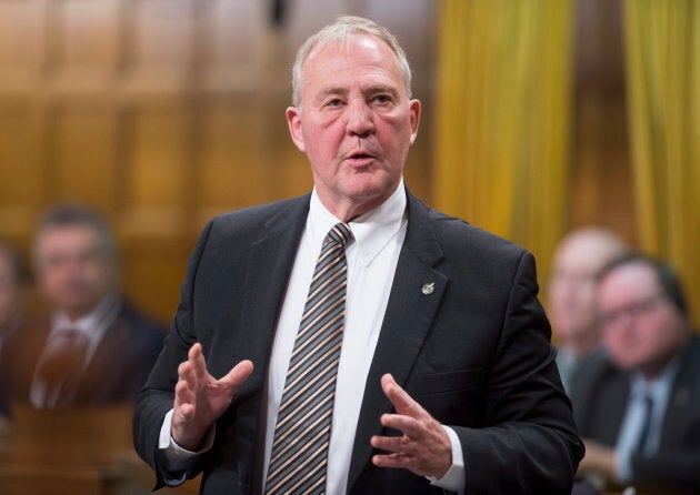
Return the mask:
[[572,2],[440,7],[436,205],[524,245],[546,271],[569,210]]

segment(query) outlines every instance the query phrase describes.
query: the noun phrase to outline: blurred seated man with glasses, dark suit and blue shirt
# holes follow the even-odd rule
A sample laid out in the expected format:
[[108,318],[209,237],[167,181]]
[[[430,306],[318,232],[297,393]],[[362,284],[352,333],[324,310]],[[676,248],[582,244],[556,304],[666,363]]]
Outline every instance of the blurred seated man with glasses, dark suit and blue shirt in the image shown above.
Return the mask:
[[680,281],[667,264],[630,254],[598,283],[609,360],[587,363],[573,396],[587,438],[579,475],[700,493],[700,340]]

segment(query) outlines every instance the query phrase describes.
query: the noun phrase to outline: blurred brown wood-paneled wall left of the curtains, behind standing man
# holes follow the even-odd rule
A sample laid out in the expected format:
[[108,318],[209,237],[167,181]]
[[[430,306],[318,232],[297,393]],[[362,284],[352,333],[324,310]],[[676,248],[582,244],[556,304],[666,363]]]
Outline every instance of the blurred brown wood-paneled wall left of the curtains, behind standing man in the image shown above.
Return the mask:
[[[411,44],[414,92],[430,98],[432,43],[417,38],[434,3],[390,1],[288,1],[274,26],[267,0],[0,0],[0,238],[29,249],[49,204],[92,204],[118,233],[127,293],[170,320],[209,218],[312,186],[284,120],[310,32],[376,14]],[[428,151],[412,153],[417,181]]]

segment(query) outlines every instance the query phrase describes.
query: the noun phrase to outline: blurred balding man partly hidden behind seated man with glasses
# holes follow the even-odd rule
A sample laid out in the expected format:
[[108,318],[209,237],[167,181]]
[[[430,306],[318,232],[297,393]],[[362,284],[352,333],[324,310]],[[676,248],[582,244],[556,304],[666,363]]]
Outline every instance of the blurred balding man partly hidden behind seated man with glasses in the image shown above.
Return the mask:
[[581,362],[601,347],[593,314],[596,275],[627,249],[617,234],[601,228],[574,230],[557,246],[547,311],[558,350],[557,366],[568,393]]

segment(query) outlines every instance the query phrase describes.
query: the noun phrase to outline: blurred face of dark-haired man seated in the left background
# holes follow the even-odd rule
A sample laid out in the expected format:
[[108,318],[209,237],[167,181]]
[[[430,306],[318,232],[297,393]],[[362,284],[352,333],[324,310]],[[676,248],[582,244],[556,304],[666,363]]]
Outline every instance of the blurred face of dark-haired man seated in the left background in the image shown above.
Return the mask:
[[83,225],[42,231],[37,240],[37,272],[47,301],[73,320],[92,311],[117,285],[114,261],[98,233]]

